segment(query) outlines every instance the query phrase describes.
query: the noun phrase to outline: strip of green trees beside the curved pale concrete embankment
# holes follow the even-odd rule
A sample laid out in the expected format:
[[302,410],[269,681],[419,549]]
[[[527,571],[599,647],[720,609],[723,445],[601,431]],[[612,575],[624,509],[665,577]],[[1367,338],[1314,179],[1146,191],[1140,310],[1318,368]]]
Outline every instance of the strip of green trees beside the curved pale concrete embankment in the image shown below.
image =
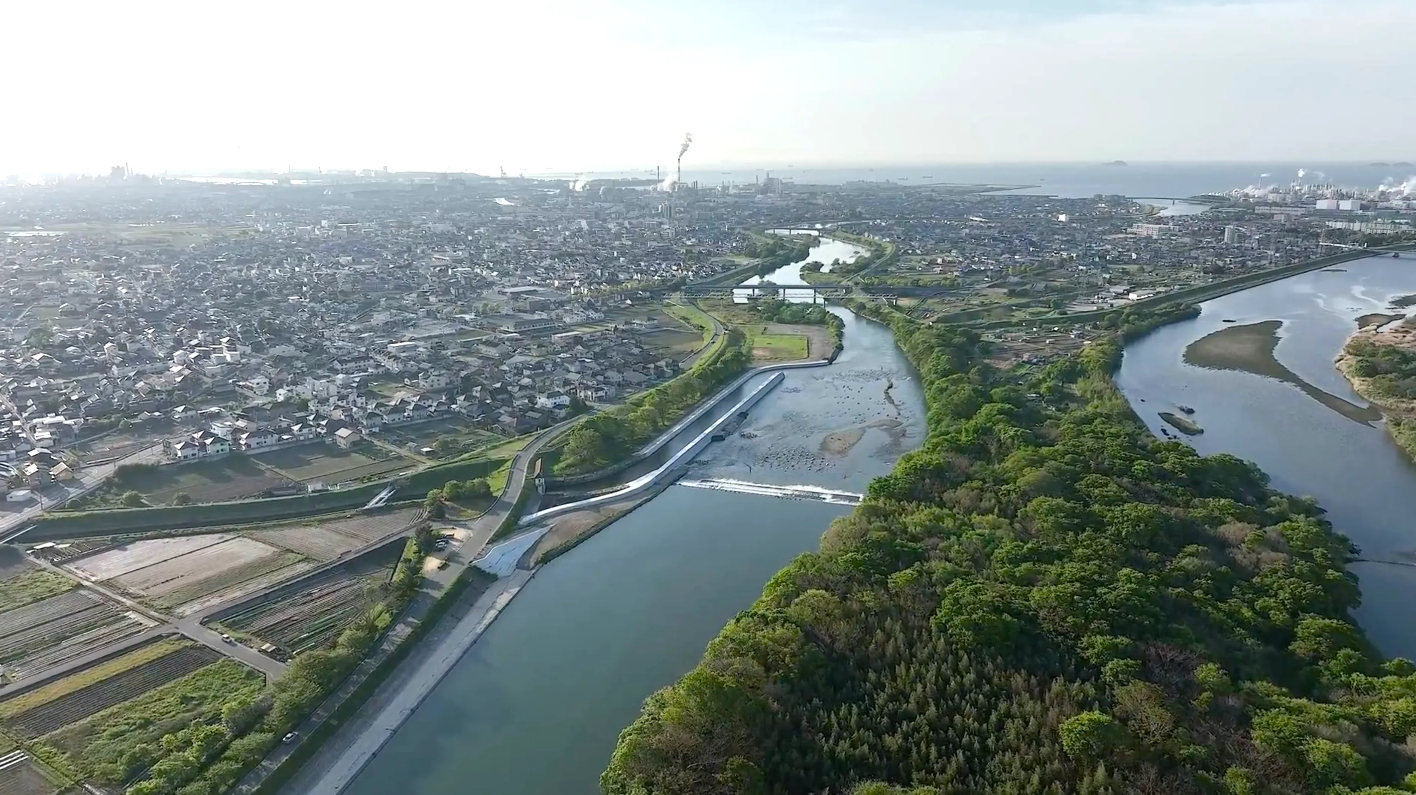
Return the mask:
[[746,337],[729,329],[722,344],[687,373],[581,422],[571,431],[555,472],[578,475],[623,461],[746,370],[750,361]]

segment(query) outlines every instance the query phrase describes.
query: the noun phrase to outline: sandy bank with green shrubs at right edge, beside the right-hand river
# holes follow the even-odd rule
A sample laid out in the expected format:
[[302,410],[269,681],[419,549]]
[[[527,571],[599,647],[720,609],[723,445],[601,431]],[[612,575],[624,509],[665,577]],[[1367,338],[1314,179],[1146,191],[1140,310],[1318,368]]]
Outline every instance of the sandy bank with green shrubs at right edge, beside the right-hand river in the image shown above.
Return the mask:
[[1359,395],[1382,407],[1386,429],[1416,459],[1416,320],[1388,332],[1359,329],[1337,367]]

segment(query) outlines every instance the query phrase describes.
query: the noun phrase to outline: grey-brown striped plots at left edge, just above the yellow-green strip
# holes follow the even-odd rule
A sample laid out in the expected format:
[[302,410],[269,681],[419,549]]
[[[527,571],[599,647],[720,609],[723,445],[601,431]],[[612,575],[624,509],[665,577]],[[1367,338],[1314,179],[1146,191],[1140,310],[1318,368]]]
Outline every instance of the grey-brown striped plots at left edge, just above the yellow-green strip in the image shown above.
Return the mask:
[[133,614],[75,588],[0,614],[0,660],[20,680],[144,629]]

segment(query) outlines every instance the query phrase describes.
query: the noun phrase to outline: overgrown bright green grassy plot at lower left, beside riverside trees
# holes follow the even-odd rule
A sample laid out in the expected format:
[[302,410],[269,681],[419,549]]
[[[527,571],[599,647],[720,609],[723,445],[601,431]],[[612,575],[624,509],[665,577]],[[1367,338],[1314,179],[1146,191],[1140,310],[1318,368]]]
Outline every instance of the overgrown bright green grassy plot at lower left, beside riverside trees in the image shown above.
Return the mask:
[[101,784],[122,784],[125,758],[156,747],[164,734],[197,721],[221,717],[227,701],[248,697],[265,686],[265,677],[235,660],[219,660],[130,701],[109,707],[79,723],[44,735],[35,755],[61,769]]

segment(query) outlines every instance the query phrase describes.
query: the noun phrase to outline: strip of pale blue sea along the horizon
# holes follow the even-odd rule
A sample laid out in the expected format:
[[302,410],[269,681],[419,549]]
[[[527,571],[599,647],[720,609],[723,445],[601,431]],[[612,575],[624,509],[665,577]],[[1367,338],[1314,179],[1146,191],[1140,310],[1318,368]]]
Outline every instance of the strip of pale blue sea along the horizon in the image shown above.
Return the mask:
[[[799,184],[843,184],[857,180],[893,181],[902,186],[930,183],[966,183],[1029,186],[1021,193],[1062,197],[1096,194],[1133,198],[1185,198],[1201,193],[1228,191],[1257,184],[1287,184],[1304,171],[1306,184],[1375,188],[1383,181],[1400,183],[1416,176],[1416,166],[1379,166],[1372,163],[991,163],[991,164],[922,164],[922,166],[843,166],[843,167],[724,167],[685,169],[685,183],[704,186],[742,184],[766,176],[789,179]],[[668,173],[667,170],[664,171]],[[1267,176],[1264,176],[1267,174]],[[654,169],[639,171],[589,171],[582,174],[535,174],[573,179],[653,179]]]

